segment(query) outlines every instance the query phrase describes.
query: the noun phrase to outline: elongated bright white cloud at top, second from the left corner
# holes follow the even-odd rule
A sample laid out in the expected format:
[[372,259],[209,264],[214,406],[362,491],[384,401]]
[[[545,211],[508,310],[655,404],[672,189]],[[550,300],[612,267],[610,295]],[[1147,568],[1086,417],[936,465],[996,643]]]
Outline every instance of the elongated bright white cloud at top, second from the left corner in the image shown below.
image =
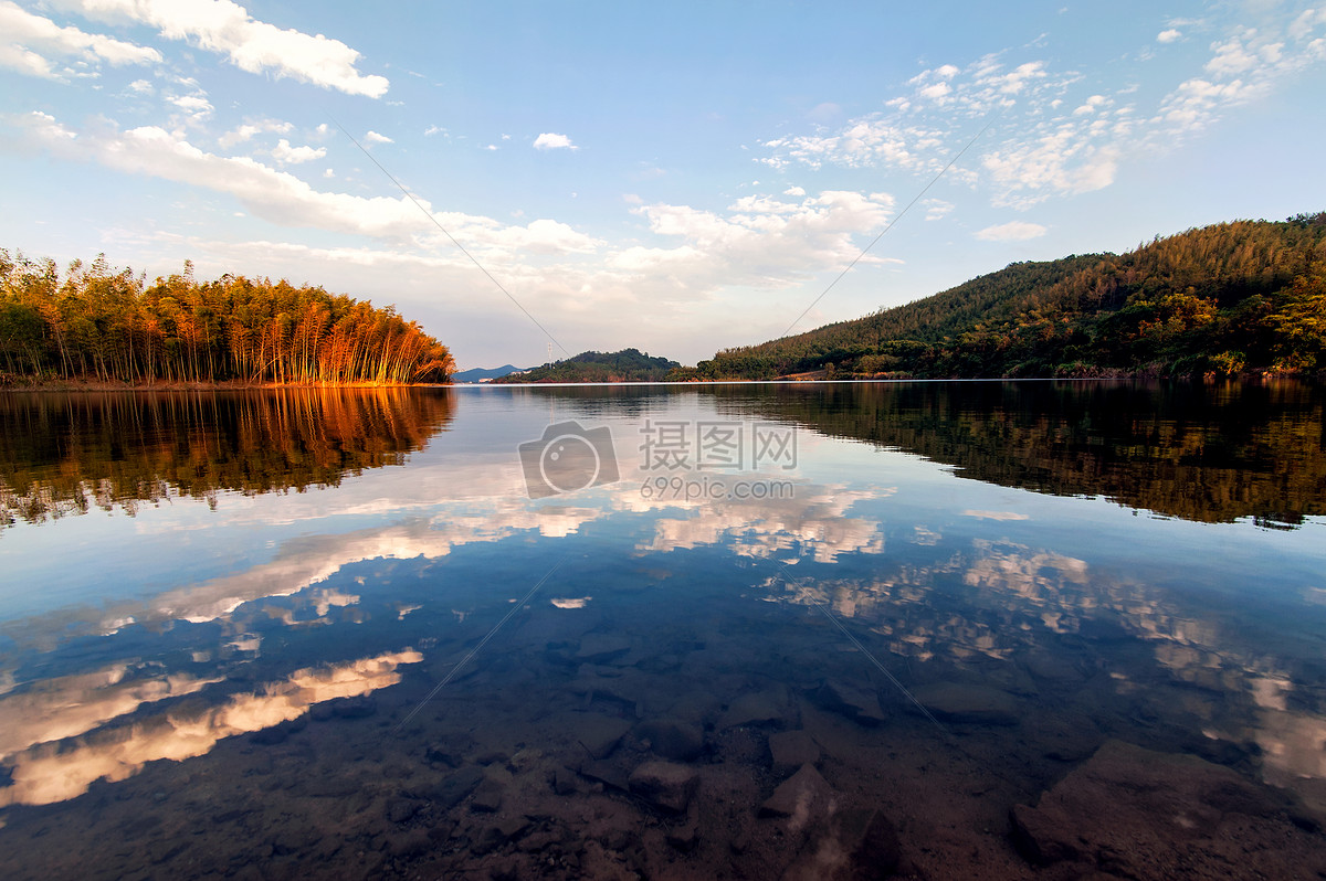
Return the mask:
[[156,28],[168,40],[224,54],[248,73],[273,73],[370,98],[381,98],[390,85],[386,77],[359,73],[359,53],[339,40],[257,21],[231,0],[72,1],[88,16],[127,19]]

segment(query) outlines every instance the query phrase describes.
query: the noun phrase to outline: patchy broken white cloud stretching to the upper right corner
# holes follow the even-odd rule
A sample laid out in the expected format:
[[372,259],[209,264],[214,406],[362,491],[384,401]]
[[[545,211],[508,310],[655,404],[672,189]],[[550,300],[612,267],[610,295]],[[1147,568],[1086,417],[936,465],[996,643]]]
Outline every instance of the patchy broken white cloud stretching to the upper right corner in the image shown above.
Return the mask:
[[[1176,41],[1188,26],[1211,25],[1172,20],[1156,38]],[[1227,110],[1269,94],[1280,79],[1326,60],[1323,29],[1326,9],[1270,9],[1256,29],[1227,29],[1211,44],[1200,76],[1179,82],[1150,117],[1139,113],[1135,83],[1083,94],[1081,73],[1034,58],[1010,62],[1008,52],[965,66],[945,64],[908,79],[903,94],[883,102],[887,111],[837,131],[766,140],[766,155],[756,160],[777,170],[837,164],[934,175],[981,121],[993,119],[976,142],[973,162],[957,163],[948,178],[984,183],[991,204],[1025,209],[1109,187],[1127,158],[1171,148]]]

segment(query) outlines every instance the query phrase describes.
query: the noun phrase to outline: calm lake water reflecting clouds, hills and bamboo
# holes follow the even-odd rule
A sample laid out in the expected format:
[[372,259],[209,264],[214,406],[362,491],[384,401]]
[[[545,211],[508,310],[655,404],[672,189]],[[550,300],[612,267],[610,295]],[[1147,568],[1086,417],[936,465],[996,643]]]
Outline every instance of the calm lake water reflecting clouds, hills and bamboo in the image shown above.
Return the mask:
[[1323,407],[3,395],[0,876],[1318,878]]

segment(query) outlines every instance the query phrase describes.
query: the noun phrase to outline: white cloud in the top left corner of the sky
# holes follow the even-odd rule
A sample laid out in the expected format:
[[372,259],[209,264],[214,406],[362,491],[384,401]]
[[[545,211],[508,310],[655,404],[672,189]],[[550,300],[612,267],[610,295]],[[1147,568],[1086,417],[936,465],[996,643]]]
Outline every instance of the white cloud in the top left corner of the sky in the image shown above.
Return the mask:
[[0,34],[4,34],[0,36],[0,66],[46,79],[64,79],[65,76],[56,72],[41,52],[117,66],[162,60],[155,49],[57,25],[9,0],[0,1]]

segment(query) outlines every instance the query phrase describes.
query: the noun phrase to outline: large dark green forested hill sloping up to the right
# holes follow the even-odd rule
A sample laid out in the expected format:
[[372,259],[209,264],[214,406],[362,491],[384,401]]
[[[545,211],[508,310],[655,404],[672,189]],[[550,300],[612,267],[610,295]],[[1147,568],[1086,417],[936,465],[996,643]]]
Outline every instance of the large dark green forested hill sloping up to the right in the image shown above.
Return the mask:
[[1326,212],[1126,254],[1010,264],[944,293],[717,352],[672,379],[1101,376],[1326,370]]

